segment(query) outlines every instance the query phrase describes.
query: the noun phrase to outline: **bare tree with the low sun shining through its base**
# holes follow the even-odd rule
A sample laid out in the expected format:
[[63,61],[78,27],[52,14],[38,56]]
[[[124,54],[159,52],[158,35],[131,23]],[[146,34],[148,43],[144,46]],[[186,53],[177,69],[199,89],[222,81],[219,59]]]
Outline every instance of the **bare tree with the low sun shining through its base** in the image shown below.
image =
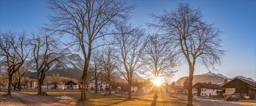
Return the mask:
[[[150,39],[142,56],[144,65],[141,74],[150,79],[164,78],[170,80],[176,72],[176,54],[169,40],[158,34],[150,36]],[[154,97],[157,98],[157,86],[154,86]]]

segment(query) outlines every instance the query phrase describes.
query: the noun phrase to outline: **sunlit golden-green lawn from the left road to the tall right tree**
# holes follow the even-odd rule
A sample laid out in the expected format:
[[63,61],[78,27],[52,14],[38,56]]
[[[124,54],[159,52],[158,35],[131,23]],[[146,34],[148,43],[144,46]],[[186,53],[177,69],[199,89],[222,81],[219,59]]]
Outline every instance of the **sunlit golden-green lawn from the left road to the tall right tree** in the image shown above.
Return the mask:
[[[22,90],[23,93],[36,94],[36,90]],[[63,102],[71,102],[83,104],[86,106],[150,106],[151,104],[155,104],[156,106],[187,106],[187,103],[179,103],[179,102],[152,102],[146,100],[127,100],[126,97],[117,96],[117,95],[108,95],[105,96],[101,93],[86,93],[86,97],[88,97],[88,101],[79,101],[78,99],[81,96],[80,91],[59,91],[59,90],[42,90],[42,92],[47,92],[48,95],[39,95],[40,97],[45,97],[57,101]],[[66,95],[68,97],[73,97],[74,99],[58,99],[55,97]],[[150,95],[145,95],[150,96]],[[153,97],[153,96],[152,96]],[[160,97],[160,95],[158,95]]]

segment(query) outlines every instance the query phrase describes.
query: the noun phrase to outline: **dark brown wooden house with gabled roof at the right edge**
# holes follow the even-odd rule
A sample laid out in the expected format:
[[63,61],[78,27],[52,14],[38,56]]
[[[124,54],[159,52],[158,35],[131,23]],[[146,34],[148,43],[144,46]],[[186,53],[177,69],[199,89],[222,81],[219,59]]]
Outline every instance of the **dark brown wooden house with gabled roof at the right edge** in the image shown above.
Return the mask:
[[239,94],[241,98],[249,96],[250,99],[256,98],[256,82],[235,78],[223,85],[225,95]]

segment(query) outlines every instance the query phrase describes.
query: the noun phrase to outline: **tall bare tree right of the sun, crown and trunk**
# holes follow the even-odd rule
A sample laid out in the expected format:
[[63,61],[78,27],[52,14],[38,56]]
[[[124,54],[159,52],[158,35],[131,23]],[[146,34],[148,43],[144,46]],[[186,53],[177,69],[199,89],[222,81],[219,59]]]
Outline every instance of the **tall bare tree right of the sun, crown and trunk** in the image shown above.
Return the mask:
[[178,52],[183,54],[188,62],[188,106],[192,106],[192,80],[196,61],[208,70],[215,70],[216,64],[221,64],[224,55],[221,44],[220,31],[203,19],[200,9],[193,9],[188,3],[180,3],[171,12],[164,11],[162,15],[154,15],[157,24],[149,24],[164,32],[172,44],[179,47]]

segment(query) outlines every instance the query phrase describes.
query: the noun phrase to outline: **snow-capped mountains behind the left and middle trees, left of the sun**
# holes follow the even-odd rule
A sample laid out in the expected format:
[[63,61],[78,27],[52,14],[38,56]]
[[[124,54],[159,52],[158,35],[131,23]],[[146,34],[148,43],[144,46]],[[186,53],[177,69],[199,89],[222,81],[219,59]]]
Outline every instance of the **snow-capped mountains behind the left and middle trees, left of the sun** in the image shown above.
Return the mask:
[[[61,77],[81,79],[84,67],[84,60],[79,54],[72,53],[69,49],[64,51],[64,55],[60,59],[60,62],[53,62],[50,66],[50,70],[46,75],[51,75],[53,73],[59,73]],[[36,78],[35,62],[34,59],[26,61],[26,65],[30,67],[28,75],[30,78]],[[115,72],[115,79],[119,81],[126,82],[123,75],[119,72]],[[137,74],[134,73],[133,79],[137,79],[138,82],[141,82],[143,79]]]

